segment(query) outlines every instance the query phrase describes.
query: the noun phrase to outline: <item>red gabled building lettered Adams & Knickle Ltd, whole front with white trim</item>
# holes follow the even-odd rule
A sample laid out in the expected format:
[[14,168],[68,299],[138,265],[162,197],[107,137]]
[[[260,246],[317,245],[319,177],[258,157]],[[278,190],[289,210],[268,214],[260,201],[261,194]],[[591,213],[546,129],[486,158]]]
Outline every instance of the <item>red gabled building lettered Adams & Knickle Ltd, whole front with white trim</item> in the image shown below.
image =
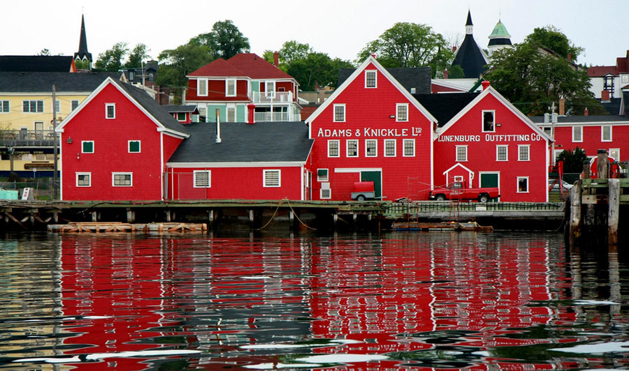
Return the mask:
[[312,199],[350,199],[373,181],[376,199],[427,197],[435,118],[373,56],[306,119],[312,148]]

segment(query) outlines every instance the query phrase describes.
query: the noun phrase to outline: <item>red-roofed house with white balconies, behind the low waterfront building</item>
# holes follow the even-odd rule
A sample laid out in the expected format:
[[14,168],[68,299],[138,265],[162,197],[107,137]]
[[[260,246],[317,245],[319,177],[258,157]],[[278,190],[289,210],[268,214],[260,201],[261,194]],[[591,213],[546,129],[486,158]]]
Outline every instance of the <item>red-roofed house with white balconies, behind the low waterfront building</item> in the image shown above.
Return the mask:
[[300,121],[296,79],[253,53],[217,59],[188,76],[186,105],[205,121]]

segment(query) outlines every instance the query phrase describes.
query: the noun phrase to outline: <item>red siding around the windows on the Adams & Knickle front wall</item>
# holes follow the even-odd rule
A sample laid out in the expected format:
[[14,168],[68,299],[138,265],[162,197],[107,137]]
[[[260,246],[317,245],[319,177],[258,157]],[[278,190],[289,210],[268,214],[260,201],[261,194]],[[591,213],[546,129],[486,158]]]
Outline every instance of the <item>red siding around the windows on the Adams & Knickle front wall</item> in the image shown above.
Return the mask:
[[[375,70],[375,67],[369,65],[366,69]],[[396,122],[390,118],[396,115],[396,103],[408,103],[408,121]],[[335,104],[345,104],[345,122],[333,122]],[[377,72],[377,89],[368,89],[364,71],[361,72],[310,125],[315,139],[313,199],[320,199],[317,169],[321,168],[328,169],[333,200],[350,199],[354,181],[360,180],[359,169],[382,169],[385,200],[427,197],[431,184],[431,122],[382,73]],[[371,129],[387,131],[374,133]],[[339,140],[340,157],[328,157],[329,139]],[[347,157],[348,139],[359,141],[356,158]],[[365,156],[366,139],[377,140],[377,156]],[[396,140],[396,157],[384,156],[384,139]],[[403,139],[414,139],[414,157],[403,156]],[[347,173],[347,169],[356,172]],[[420,183],[423,188],[411,186],[410,181]]]

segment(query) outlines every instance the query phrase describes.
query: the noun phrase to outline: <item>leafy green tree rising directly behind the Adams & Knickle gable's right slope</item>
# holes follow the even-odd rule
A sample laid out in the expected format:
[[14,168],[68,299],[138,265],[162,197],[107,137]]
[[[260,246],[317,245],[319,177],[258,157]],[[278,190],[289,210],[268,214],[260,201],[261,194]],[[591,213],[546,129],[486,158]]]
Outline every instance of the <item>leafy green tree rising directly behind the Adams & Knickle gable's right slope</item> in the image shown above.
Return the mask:
[[362,62],[375,53],[384,67],[431,66],[433,77],[449,65],[453,52],[440,33],[426,24],[398,22],[368,43],[358,54]]

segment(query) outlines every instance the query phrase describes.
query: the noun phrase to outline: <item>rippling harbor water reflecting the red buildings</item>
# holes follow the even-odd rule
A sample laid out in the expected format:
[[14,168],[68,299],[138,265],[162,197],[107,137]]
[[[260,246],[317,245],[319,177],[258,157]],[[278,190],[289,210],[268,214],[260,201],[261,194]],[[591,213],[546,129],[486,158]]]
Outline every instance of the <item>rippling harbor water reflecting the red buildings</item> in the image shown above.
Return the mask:
[[1,370],[629,367],[629,259],[562,234],[5,234]]

